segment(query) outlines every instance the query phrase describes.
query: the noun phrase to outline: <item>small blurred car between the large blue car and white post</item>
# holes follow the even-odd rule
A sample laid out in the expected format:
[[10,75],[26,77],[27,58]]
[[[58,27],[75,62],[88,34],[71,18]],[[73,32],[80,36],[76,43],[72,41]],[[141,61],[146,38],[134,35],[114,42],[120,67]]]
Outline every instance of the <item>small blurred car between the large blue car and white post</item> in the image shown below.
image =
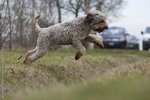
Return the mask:
[[137,39],[136,36],[128,35],[127,36],[127,48],[138,49],[139,48],[139,39]]

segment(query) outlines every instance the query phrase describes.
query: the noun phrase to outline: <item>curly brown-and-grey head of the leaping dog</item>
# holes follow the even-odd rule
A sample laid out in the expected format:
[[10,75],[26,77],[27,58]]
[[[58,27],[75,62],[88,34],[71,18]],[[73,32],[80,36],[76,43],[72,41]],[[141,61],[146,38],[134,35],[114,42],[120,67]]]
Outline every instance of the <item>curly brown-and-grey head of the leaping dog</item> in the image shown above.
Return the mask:
[[106,17],[100,11],[89,12],[86,21],[90,24],[93,31],[103,32],[108,28]]

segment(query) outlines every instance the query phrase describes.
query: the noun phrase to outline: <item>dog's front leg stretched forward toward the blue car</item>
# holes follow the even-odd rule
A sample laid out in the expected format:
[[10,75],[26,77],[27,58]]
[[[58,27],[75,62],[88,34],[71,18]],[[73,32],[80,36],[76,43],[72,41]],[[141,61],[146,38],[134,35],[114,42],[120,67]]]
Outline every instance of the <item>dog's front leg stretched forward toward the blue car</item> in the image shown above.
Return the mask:
[[95,43],[96,45],[98,45],[99,47],[104,48],[103,41],[100,40],[100,38],[98,38],[96,35],[91,35],[90,34],[83,41],[92,42],[92,43]]

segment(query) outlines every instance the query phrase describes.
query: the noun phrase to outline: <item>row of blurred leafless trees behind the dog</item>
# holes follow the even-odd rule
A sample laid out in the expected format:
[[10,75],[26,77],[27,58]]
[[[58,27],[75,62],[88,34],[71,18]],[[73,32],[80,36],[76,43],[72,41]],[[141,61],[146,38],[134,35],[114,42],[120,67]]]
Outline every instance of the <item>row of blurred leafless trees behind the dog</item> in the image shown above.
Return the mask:
[[125,0],[1,0],[0,49],[31,48],[38,34],[32,25],[36,15],[42,14],[39,24],[47,27],[61,23],[66,14],[77,17],[89,10],[101,10],[110,18],[118,18]]

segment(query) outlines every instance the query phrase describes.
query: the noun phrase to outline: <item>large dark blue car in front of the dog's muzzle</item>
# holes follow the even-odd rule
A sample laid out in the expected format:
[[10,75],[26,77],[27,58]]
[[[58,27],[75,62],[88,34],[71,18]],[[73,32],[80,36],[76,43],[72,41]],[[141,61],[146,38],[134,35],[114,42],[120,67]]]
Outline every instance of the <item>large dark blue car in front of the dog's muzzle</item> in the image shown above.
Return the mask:
[[102,34],[103,42],[106,48],[126,48],[127,32],[122,27],[110,27]]

